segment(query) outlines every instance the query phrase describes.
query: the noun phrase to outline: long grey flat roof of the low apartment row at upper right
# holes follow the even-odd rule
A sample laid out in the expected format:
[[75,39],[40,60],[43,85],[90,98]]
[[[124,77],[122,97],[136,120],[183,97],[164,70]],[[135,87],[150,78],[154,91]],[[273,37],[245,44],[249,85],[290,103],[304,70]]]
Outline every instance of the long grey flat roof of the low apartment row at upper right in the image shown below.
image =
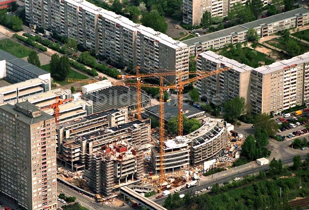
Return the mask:
[[200,36],[200,37],[187,39],[183,42],[185,44],[187,44],[188,46],[192,46],[192,45],[197,44],[197,43],[203,44],[204,42],[208,42],[208,41],[211,41],[213,39],[218,39],[218,38],[226,37],[230,34],[237,34],[237,33],[246,31],[249,28],[255,28],[255,27],[258,27],[258,26],[263,25],[263,24],[269,25],[269,24],[272,24],[274,22],[278,22],[280,20],[285,20],[285,19],[294,17],[296,15],[301,15],[301,14],[308,13],[308,12],[309,12],[309,9],[307,9],[305,7],[301,7],[301,8],[291,10],[291,11],[288,11],[288,12],[276,14],[276,15],[273,15],[273,16],[270,16],[270,17],[267,17],[267,18],[258,19],[258,20],[252,21],[252,22],[248,22],[248,23],[238,25],[238,26],[233,26],[233,27],[230,27],[230,28],[219,30],[219,31],[216,31],[216,32],[213,32],[213,33],[210,33],[210,34],[205,34],[205,35]]

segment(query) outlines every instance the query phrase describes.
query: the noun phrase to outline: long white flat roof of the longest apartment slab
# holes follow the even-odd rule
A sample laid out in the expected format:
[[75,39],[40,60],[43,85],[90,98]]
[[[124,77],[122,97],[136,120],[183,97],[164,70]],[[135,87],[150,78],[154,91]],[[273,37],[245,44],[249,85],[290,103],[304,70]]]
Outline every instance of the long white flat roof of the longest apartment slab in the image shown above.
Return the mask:
[[145,36],[151,37],[171,48],[178,49],[180,47],[187,47],[187,45],[184,44],[183,42],[174,40],[171,37],[167,36],[166,34],[155,31],[152,28],[143,26],[141,24],[134,23],[133,21],[129,20],[129,18],[105,10],[101,7],[95,6],[94,4],[91,4],[87,1],[77,1],[77,0],[65,0],[65,1],[75,6],[82,7],[83,9],[93,14],[102,15],[104,18],[117,22],[132,31],[140,32]]

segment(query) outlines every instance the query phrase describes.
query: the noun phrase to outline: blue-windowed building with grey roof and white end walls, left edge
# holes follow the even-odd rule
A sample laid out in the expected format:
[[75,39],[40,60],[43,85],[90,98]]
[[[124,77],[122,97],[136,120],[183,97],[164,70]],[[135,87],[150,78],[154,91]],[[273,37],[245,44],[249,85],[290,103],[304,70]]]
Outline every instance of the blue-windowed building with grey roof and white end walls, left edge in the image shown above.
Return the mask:
[[19,59],[4,50],[0,50],[0,79],[3,78],[11,83],[39,78],[49,84],[46,91],[50,90],[51,80],[49,72]]

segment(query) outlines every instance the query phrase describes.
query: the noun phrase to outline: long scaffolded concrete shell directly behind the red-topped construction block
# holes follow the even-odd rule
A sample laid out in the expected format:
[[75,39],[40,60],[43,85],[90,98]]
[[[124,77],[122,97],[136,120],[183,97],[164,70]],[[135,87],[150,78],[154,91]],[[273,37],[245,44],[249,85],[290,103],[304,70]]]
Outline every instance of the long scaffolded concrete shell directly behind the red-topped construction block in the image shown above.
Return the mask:
[[[72,170],[89,169],[91,155],[102,147],[126,143],[142,152],[143,145],[150,143],[149,120],[134,120],[114,127],[108,127],[108,124],[106,126],[86,135],[62,139],[62,153],[58,155],[58,160],[70,165]],[[139,167],[143,168],[142,165]]]

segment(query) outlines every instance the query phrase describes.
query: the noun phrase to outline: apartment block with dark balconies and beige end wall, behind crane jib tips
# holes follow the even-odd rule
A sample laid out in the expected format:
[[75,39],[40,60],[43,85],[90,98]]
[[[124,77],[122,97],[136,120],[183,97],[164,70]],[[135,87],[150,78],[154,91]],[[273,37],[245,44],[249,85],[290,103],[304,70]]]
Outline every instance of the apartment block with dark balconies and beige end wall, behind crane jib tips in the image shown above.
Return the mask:
[[[197,90],[208,103],[221,105],[236,96],[245,98],[250,103],[250,76],[252,67],[206,51],[197,56],[197,72],[214,71],[230,67],[228,71],[206,77],[197,81]],[[197,75],[199,75],[197,73]]]

